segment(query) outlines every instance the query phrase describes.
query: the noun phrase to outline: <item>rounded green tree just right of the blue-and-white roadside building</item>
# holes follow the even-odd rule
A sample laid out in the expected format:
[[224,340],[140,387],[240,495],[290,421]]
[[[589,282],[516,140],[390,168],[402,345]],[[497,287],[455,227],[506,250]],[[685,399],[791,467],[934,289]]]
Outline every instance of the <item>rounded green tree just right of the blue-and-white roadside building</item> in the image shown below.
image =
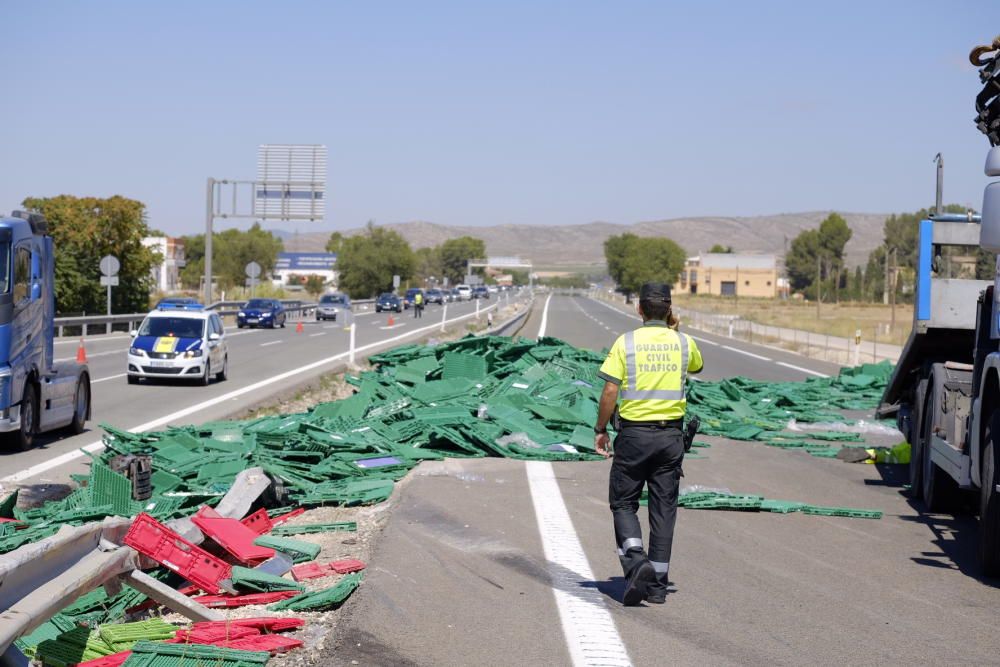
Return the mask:
[[337,256],[340,287],[354,299],[391,290],[393,275],[409,280],[415,268],[413,250],[406,239],[372,221],[363,233],[344,239]]

